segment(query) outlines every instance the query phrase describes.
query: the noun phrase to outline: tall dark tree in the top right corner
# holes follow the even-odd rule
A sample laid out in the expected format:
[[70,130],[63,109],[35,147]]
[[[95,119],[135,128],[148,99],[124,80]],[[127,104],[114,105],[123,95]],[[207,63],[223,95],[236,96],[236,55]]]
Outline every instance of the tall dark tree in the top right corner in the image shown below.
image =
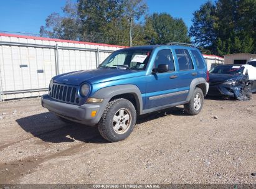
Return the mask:
[[224,53],[255,53],[256,1],[219,0],[216,7],[217,35],[230,41]]

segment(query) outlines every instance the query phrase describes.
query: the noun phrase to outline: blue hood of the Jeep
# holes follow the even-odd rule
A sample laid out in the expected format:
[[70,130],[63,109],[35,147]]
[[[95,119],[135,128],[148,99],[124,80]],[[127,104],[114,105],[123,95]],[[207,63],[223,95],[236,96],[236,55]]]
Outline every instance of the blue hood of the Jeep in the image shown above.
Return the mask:
[[80,85],[87,81],[88,83],[100,83],[111,80],[120,80],[123,78],[138,76],[141,71],[133,71],[116,68],[98,68],[95,70],[73,71],[54,77],[54,82],[67,85]]

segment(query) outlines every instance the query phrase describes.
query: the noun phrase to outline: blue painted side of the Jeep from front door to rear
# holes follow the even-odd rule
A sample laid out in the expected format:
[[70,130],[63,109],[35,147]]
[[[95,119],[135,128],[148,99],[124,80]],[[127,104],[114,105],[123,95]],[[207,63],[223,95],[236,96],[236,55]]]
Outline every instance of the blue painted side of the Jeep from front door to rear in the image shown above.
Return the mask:
[[[176,53],[175,53],[175,49],[179,49],[179,48],[187,49],[189,51],[192,58],[193,65],[194,65],[194,69],[185,70],[185,71],[179,70],[178,58],[176,57]],[[170,49],[171,52],[173,53],[174,65],[175,65],[176,71],[169,71],[166,73],[156,73],[155,75],[153,75],[151,71],[154,66],[154,59],[156,58],[156,55],[159,52],[159,50],[163,50],[163,49]],[[166,46],[162,45],[161,47],[154,49],[153,55],[151,55],[151,58],[149,59],[149,62],[148,62],[148,72],[146,76],[146,94],[143,94],[143,101],[146,102],[146,106],[144,106],[145,109],[155,108],[157,106],[166,104],[166,102],[168,102],[169,104],[172,104],[177,101],[184,101],[187,97],[187,93],[169,96],[166,98],[165,101],[163,101],[163,99],[150,100],[149,97],[157,96],[161,94],[174,93],[179,91],[186,91],[190,89],[191,81],[194,78],[197,78],[197,77],[206,78],[206,68],[200,71],[197,69],[197,66],[195,63],[196,60],[194,59],[194,56],[192,56],[191,49],[197,50],[196,48],[191,48],[191,47],[168,46],[168,45]],[[204,60],[203,57],[202,57],[202,60]],[[206,65],[205,60],[204,60],[204,64]],[[197,72],[197,75],[193,76],[192,75],[193,72]],[[178,78],[171,80],[169,77],[172,75],[176,75],[178,76]],[[179,82],[177,82],[177,80]]]

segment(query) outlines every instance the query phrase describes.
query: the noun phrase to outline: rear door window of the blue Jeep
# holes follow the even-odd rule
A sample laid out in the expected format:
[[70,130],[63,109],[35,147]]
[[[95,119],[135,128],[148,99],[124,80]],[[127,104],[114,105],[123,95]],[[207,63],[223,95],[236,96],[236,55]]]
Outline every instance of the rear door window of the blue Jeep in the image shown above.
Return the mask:
[[192,70],[194,69],[191,57],[186,49],[175,49],[178,58],[179,70]]

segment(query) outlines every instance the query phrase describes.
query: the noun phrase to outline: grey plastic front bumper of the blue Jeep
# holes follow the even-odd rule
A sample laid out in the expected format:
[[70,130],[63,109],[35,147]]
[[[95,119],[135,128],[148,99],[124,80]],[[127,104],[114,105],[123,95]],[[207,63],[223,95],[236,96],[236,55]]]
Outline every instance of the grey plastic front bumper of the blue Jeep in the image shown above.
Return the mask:
[[[57,114],[70,121],[79,122],[88,126],[95,126],[100,121],[102,116],[103,104],[83,104],[82,106],[67,104],[55,99],[50,98],[48,94],[45,94],[41,98],[41,103],[44,108]],[[97,111],[96,116],[92,117],[92,111]]]

